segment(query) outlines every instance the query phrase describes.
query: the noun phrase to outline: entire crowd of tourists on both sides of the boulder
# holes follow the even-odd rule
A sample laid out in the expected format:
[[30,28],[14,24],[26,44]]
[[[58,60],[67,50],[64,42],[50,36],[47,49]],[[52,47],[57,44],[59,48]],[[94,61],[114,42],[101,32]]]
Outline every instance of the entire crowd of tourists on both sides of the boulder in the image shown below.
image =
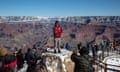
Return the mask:
[[[71,60],[75,63],[74,72],[94,72],[93,64],[97,51],[101,50],[104,52],[111,48],[116,50],[116,46],[117,42],[115,40],[113,42],[107,42],[107,40],[105,40],[99,45],[94,43],[83,46],[82,43],[79,43],[77,48],[73,49],[73,54],[71,55]],[[69,43],[66,43],[65,47],[66,50],[71,49]],[[37,65],[44,66],[47,71],[41,55],[45,50],[35,48],[35,46],[33,46],[33,48],[27,48],[25,53],[23,53],[23,49],[16,50],[17,52],[15,51],[15,53],[9,54],[7,48],[0,48],[0,72],[17,72],[23,68],[25,62],[28,65],[26,72],[35,72]],[[89,55],[90,50],[92,51],[92,56]],[[40,61],[39,63],[37,63],[38,60]],[[38,69],[40,69],[40,67]]]

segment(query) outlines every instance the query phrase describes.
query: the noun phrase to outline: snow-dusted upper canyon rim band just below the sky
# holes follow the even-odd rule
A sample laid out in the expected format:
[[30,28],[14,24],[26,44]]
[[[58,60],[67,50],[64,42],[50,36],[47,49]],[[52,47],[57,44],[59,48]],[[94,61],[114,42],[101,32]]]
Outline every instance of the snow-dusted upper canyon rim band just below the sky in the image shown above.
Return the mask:
[[97,24],[97,23],[120,23],[120,16],[68,16],[68,17],[40,17],[40,16],[0,16],[0,23],[4,22],[26,22],[26,21],[41,21],[54,22],[72,22],[82,24]]

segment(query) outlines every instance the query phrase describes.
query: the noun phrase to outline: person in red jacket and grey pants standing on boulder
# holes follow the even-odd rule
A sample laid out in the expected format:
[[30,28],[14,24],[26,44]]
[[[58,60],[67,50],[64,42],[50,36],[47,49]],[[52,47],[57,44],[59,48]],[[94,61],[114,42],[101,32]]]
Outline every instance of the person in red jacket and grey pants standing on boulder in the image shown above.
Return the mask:
[[60,46],[61,46],[61,33],[62,33],[62,28],[60,27],[59,21],[55,22],[55,25],[53,27],[53,33],[54,33],[54,53],[61,53]]

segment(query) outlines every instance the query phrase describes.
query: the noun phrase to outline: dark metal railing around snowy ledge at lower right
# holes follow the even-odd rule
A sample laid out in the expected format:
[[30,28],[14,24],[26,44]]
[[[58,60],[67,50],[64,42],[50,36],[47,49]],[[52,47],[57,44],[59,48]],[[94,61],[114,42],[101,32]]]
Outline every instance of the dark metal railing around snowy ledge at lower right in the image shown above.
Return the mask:
[[[117,69],[113,69],[113,68],[108,68],[108,66],[112,66],[112,67],[118,67],[120,68],[120,66],[116,66],[116,65],[111,65],[111,64],[106,64],[103,63],[103,59],[105,57],[109,57],[111,55],[120,55],[120,46],[118,46],[115,50],[113,49],[107,49],[104,54],[102,55],[102,59],[97,57],[95,58],[95,65],[97,66],[97,68],[100,68],[100,72],[108,72],[108,70],[113,71],[113,72],[120,72],[120,70]],[[98,71],[96,71],[98,72]]]

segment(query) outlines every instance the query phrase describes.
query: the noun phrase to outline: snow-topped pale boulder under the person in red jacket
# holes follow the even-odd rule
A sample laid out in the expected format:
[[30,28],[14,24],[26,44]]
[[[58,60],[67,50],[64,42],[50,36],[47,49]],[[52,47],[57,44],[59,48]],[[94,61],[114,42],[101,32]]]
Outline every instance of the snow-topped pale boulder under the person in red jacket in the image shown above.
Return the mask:
[[61,53],[53,52],[54,49],[48,49],[47,53],[43,53],[48,72],[73,72],[72,52],[65,49],[61,49]]

